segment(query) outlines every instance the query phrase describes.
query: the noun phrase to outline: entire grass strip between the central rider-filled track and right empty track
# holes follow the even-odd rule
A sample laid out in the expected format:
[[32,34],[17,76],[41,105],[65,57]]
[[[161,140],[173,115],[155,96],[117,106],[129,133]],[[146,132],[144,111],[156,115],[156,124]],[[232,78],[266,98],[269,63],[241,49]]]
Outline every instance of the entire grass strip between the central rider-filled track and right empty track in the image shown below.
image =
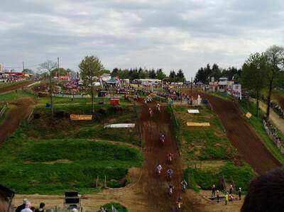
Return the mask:
[[[253,169],[238,160],[236,149],[226,137],[224,126],[209,106],[197,106],[200,113],[187,113],[187,108],[175,106],[178,125],[176,136],[180,143],[182,157],[187,164],[185,179],[189,187],[210,189],[213,184],[222,189],[220,179],[233,179],[236,186],[246,191],[249,181],[256,176]],[[210,127],[187,127],[186,122],[209,122]]]

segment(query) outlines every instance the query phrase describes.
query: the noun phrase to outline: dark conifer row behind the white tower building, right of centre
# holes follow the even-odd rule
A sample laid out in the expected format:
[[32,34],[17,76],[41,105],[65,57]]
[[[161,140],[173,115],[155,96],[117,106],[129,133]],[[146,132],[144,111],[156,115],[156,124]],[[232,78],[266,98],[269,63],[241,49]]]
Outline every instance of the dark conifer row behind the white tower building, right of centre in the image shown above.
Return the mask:
[[206,67],[201,67],[198,69],[195,75],[195,83],[202,82],[203,84],[209,84],[212,77],[217,81],[220,77],[227,77],[228,80],[234,80],[234,82],[239,82],[241,77],[241,69],[236,67],[229,67],[228,69],[219,68],[217,64],[214,64],[212,67],[207,64]]

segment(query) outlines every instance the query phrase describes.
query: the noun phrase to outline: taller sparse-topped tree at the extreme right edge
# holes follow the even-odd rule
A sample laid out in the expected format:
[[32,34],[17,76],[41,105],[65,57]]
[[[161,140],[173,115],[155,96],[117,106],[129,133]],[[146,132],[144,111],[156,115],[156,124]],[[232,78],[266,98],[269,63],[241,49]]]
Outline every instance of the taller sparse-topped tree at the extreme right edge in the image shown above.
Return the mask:
[[278,79],[282,75],[284,65],[284,48],[273,45],[266,50],[266,56],[268,60],[268,96],[267,96],[267,111],[266,118],[269,119],[271,109],[271,93],[272,90],[277,86]]

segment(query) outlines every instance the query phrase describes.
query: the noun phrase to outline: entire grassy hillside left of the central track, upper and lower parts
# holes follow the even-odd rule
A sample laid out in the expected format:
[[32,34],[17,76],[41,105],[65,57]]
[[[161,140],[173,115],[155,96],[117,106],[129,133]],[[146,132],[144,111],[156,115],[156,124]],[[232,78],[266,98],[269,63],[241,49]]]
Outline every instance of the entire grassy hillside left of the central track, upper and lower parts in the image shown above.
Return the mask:
[[[63,111],[67,117],[51,121],[48,109],[35,108],[40,118],[31,123],[23,121],[2,147],[0,184],[19,194],[62,194],[72,189],[84,194],[97,191],[94,180],[97,176],[104,179],[106,175],[108,186],[124,186],[121,179],[128,169],[141,166],[141,152],[97,140],[138,145],[137,129],[129,133],[128,129],[102,128],[108,122],[133,122],[136,114],[129,106],[97,105],[94,121],[71,122],[68,118],[69,113],[90,110],[89,104],[62,104],[55,111]],[[67,160],[67,163],[57,160]]]

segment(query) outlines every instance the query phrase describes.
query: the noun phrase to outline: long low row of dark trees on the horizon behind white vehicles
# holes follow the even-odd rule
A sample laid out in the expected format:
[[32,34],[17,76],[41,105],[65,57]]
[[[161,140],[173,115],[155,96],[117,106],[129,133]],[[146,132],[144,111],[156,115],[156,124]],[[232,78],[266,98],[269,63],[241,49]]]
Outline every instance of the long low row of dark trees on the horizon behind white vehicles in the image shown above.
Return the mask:
[[170,71],[170,74],[167,76],[163,69],[118,69],[115,68],[111,72],[112,77],[119,77],[120,79],[160,79],[167,82],[184,82],[185,74],[182,69],[179,69],[176,73],[174,70]]

